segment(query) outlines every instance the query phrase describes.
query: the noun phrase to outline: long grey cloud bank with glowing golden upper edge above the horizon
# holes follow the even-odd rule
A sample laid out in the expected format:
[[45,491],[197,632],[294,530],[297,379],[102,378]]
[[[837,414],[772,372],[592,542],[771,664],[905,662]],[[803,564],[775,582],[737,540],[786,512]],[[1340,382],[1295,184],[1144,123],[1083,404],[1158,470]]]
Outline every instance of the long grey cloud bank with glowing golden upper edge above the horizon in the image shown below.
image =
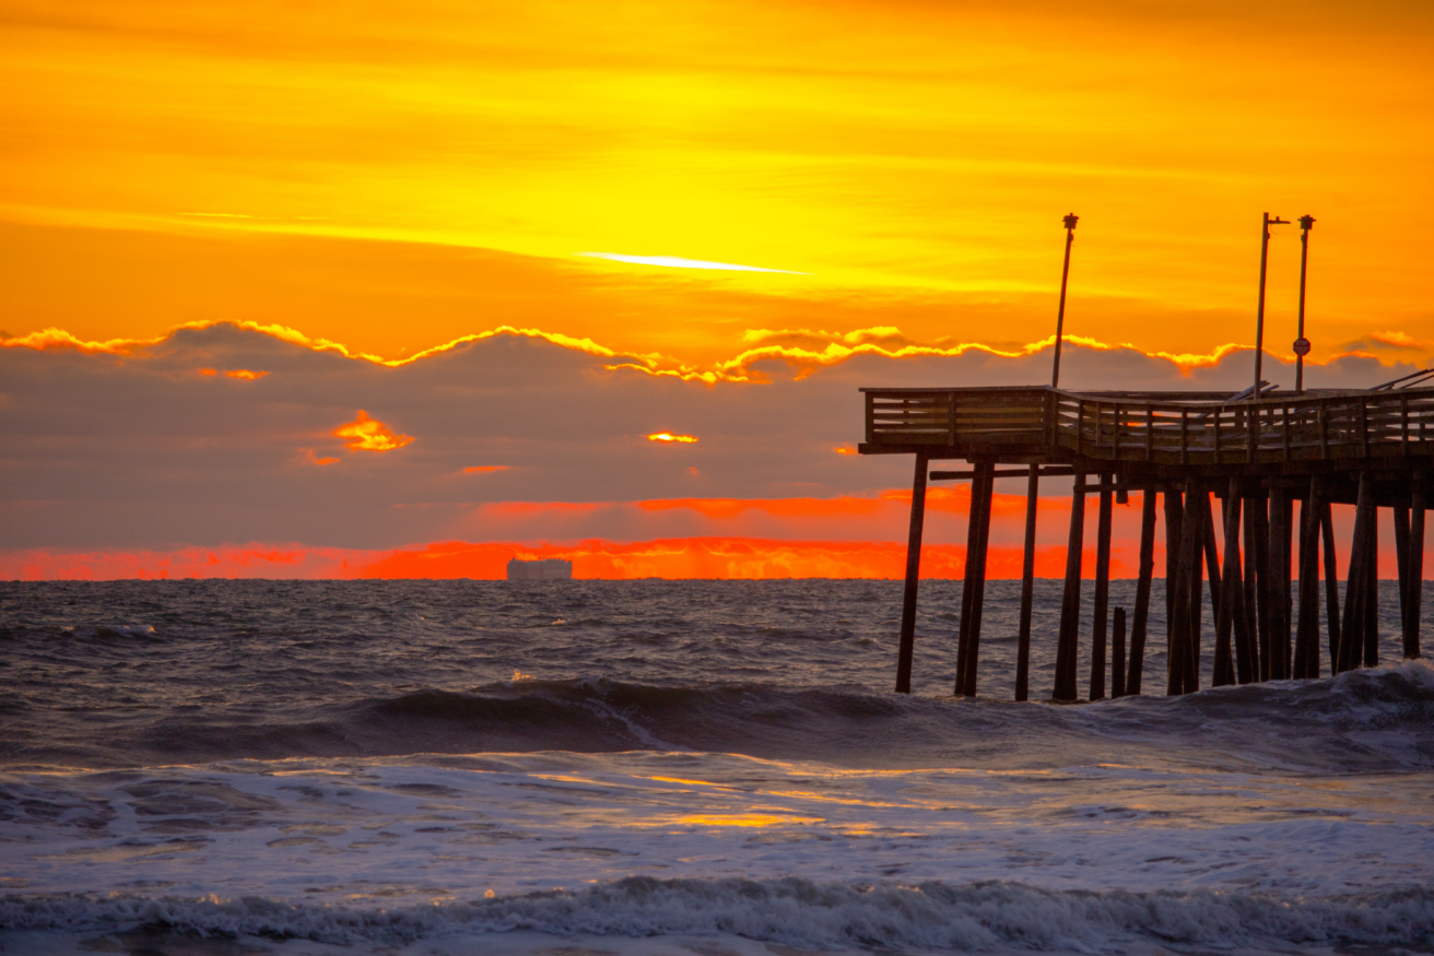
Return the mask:
[[[555,338],[488,335],[400,364],[238,324],[181,328],[125,354],[0,350],[0,548],[903,540],[905,503],[891,489],[909,487],[909,456],[833,453],[862,439],[858,388],[1031,384],[1050,376],[1048,351],[1012,357],[971,348],[906,358],[862,353],[804,377],[784,361],[759,361],[753,368],[766,384],[708,386],[609,371],[604,350]],[[1121,383],[1233,393],[1248,384],[1249,360],[1248,351],[1230,353],[1182,373],[1136,350],[1070,344],[1061,378],[1071,388]],[[201,367],[270,374],[215,388],[195,374]],[[1271,355],[1266,368],[1268,378],[1293,383],[1288,363]],[[1345,357],[1306,368],[1306,381],[1364,387],[1405,371],[1414,367]],[[376,417],[356,420],[356,408],[374,408]],[[373,433],[337,436],[336,423]],[[664,431],[701,441],[647,440]],[[344,454],[346,440],[396,446],[410,436],[403,454]],[[336,457],[341,467],[317,466]],[[505,470],[466,473],[470,467]],[[1053,496],[1060,487],[1043,486]],[[964,542],[962,494],[934,489],[932,543]],[[784,500],[796,503],[777,503]],[[836,500],[849,503],[820,503]],[[1018,493],[1012,502],[1020,506]],[[1058,529],[1060,519],[1043,525],[1043,546],[1058,545],[1058,530],[1044,537],[1047,525]],[[992,532],[994,540],[999,535]]]

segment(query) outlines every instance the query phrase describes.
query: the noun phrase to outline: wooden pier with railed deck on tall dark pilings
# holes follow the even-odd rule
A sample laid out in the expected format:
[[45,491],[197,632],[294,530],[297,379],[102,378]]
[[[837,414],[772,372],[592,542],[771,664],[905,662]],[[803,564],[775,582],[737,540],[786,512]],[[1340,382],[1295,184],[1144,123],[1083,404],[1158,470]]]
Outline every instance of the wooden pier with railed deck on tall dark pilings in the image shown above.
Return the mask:
[[[971,480],[955,692],[975,695],[995,479],[1025,477],[1025,555],[1015,699],[1030,695],[1035,507],[1041,476],[1074,477],[1065,591],[1051,699],[1080,697],[1077,656],[1086,496],[1098,494],[1088,698],[1140,694],[1154,572],[1156,494],[1164,503],[1167,694],[1199,689],[1206,583],[1216,621],[1216,687],[1319,677],[1378,664],[1378,509],[1394,512],[1404,656],[1420,655],[1424,509],[1434,472],[1434,388],[1266,393],[1074,393],[863,388],[862,454],[912,454],[911,537],[896,689],[911,691],[928,479]],[[938,460],[969,469],[931,472]],[[1020,467],[1001,467],[1020,466]],[[1117,609],[1107,656],[1111,505],[1141,492],[1140,559],[1129,648]],[[1215,533],[1220,502],[1223,560]],[[1293,503],[1301,502],[1298,540]],[[1331,505],[1354,505],[1339,606]],[[1243,549],[1242,549],[1243,540]],[[1243,550],[1243,556],[1242,556]],[[1321,613],[1319,568],[1325,588]],[[1292,605],[1291,575],[1299,605]],[[1207,572],[1207,582],[1205,580]],[[1321,641],[1321,622],[1326,641]],[[1107,682],[1107,659],[1113,666]]]

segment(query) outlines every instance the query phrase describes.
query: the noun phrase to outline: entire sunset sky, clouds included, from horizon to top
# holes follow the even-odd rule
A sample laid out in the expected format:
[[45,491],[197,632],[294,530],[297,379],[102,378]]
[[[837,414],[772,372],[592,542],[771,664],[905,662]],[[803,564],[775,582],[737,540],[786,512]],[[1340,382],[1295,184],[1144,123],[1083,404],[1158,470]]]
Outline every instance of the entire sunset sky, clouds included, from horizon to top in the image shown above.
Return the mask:
[[[1048,380],[1067,212],[1064,386],[1243,387],[1263,212],[1309,384],[1434,357],[1427,3],[22,0],[0,53],[0,578],[899,576],[856,388]],[[1286,387],[1298,275],[1276,226]]]

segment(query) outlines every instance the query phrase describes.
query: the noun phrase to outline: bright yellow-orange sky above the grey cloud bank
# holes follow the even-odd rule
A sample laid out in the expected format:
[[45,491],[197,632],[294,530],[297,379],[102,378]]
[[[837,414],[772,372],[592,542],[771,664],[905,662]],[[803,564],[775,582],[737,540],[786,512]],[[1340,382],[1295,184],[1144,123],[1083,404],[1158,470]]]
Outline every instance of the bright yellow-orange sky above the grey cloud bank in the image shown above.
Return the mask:
[[[1202,353],[1268,209],[1318,218],[1315,358],[1424,358],[1430,63],[1427,3],[0,3],[0,328],[1010,345],[1076,211],[1070,330]],[[1281,351],[1296,274],[1286,228]]]

